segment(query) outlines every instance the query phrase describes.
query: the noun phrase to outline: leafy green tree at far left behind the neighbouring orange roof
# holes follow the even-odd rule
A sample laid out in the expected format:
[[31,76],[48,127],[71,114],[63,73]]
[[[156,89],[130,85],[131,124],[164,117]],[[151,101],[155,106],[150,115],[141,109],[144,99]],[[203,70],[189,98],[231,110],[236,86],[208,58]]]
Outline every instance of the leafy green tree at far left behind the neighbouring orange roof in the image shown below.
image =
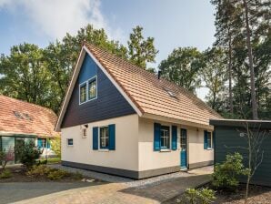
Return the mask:
[[50,73],[38,46],[13,46],[10,56],[0,58],[0,74],[2,94],[48,107]]

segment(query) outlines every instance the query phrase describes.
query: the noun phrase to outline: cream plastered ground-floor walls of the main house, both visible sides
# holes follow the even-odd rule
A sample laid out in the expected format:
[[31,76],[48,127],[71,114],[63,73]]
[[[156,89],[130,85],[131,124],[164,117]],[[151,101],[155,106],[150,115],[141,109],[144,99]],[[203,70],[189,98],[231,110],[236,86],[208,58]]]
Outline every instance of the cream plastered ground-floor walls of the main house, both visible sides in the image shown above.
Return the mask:
[[[155,122],[170,128],[172,125],[177,126],[176,150],[154,151]],[[115,124],[115,150],[93,150],[93,127],[103,127],[110,124]],[[82,138],[82,128],[84,126],[62,129],[62,160],[135,171],[177,167],[180,166],[181,128],[187,130],[188,164],[208,162],[214,159],[214,150],[204,149],[204,129],[200,128],[155,121],[137,115],[89,123],[86,138]],[[74,139],[74,146],[67,146],[67,138]]]

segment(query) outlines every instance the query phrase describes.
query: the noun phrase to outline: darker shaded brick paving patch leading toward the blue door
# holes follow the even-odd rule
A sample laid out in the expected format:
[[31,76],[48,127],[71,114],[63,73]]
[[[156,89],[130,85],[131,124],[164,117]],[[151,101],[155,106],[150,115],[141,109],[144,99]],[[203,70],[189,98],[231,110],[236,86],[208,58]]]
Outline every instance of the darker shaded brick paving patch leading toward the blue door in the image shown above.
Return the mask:
[[143,187],[122,189],[120,192],[153,199],[159,202],[166,202],[168,199],[185,192],[187,188],[196,188],[206,184],[210,180],[210,175],[191,175],[188,177],[168,179],[163,182],[153,183]]

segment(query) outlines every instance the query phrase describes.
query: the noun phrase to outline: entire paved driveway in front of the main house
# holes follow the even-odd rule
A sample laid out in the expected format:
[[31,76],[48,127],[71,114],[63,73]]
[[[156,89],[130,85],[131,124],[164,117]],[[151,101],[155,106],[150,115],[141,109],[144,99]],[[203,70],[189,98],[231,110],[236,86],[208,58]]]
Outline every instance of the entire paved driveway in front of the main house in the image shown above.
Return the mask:
[[[84,172],[87,176],[95,174]],[[111,181],[115,179],[115,182],[95,186],[84,182],[5,183],[0,187],[0,203],[162,203],[183,193],[187,188],[208,182],[209,173],[209,168],[203,168],[192,173],[177,172],[143,180],[99,174],[105,180],[110,178]]]

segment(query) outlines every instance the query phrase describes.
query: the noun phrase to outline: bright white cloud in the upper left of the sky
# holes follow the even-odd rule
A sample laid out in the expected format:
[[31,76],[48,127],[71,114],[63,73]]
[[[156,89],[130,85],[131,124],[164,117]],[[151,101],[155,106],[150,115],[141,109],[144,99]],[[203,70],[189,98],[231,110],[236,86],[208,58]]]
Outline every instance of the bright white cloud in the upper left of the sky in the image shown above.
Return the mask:
[[120,28],[108,26],[100,10],[100,0],[0,0],[0,7],[24,11],[38,32],[53,39],[60,39],[66,33],[75,34],[87,24],[105,28],[107,35],[115,40],[123,38]]

